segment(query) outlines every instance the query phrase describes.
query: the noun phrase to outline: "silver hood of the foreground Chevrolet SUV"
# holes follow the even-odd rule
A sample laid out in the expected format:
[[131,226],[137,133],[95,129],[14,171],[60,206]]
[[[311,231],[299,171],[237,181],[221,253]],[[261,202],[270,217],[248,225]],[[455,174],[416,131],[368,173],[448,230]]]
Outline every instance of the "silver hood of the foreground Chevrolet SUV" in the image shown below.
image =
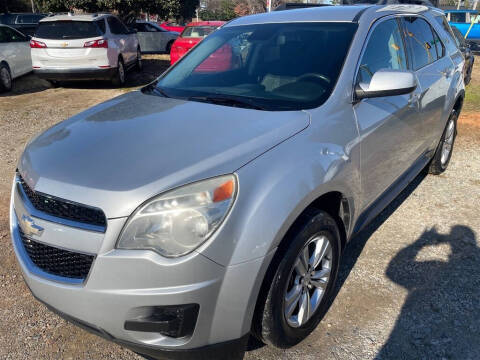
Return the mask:
[[123,217],[163,191],[236,171],[308,124],[303,111],[258,111],[134,91],[34,138],[19,171],[35,191]]

